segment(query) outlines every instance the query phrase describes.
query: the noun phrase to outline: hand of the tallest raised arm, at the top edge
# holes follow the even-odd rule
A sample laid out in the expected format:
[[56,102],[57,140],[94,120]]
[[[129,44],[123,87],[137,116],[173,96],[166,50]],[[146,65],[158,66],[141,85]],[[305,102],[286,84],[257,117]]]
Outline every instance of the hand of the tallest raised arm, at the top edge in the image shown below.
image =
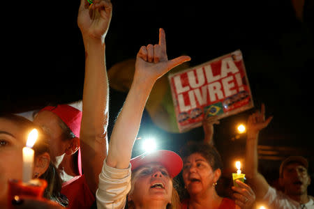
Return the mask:
[[104,41],[111,17],[112,3],[110,0],[94,0],[91,6],[87,0],[81,0],[77,24],[83,39],[92,38]]

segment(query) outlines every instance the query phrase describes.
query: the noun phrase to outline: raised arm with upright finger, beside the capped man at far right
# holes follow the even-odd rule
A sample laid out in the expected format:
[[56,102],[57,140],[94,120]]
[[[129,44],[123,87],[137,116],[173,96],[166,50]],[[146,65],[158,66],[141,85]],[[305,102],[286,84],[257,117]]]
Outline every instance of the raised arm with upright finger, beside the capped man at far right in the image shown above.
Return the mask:
[[258,134],[260,130],[270,123],[273,117],[265,119],[265,106],[262,104],[261,111],[257,111],[248,117],[247,139],[246,139],[246,169],[245,173],[252,186],[257,199],[264,197],[269,189],[267,180],[258,172]]

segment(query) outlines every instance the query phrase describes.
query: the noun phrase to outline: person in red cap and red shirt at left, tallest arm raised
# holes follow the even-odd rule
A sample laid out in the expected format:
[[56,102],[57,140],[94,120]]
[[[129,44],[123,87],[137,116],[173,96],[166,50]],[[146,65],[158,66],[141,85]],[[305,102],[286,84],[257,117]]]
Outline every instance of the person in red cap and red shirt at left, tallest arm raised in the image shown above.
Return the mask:
[[107,154],[105,36],[111,17],[110,0],[95,0],[92,4],[81,0],[77,24],[86,54],[83,109],[67,104],[45,107],[34,119],[52,139],[52,160],[63,180],[61,192],[69,199],[68,208],[90,208],[94,203],[98,175]]

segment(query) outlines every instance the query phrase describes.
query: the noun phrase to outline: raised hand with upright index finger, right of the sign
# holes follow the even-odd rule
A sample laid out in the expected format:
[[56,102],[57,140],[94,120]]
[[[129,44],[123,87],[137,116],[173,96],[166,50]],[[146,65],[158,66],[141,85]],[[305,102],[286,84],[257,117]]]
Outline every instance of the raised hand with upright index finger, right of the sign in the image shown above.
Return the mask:
[[258,133],[264,127],[271,122],[273,116],[269,116],[269,118],[265,119],[265,105],[262,104],[261,111],[256,111],[248,117],[248,123],[246,126],[248,127],[248,132],[250,133]]

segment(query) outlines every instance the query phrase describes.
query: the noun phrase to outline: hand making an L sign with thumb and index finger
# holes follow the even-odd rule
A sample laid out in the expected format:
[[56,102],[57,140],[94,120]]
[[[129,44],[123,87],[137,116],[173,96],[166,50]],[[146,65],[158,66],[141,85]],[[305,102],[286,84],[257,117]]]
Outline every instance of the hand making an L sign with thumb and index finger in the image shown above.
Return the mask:
[[159,77],[186,61],[190,61],[190,56],[179,56],[168,60],[165,31],[160,29],[158,45],[142,46],[137,53],[134,82],[137,84],[154,84]]

